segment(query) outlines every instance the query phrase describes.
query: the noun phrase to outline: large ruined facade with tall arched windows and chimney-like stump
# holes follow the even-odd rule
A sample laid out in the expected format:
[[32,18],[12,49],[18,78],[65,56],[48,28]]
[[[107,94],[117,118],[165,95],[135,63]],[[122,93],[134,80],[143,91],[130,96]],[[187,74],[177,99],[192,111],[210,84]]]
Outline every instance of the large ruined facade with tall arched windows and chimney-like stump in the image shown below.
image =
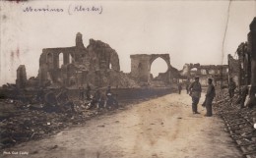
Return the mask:
[[[116,51],[108,44],[94,39],[90,39],[89,45],[85,47],[82,34],[77,33],[76,46],[42,49],[38,79],[40,85],[49,81],[65,86],[83,85],[89,81],[98,85],[98,79],[102,78],[100,75],[107,70],[120,71]],[[94,79],[89,79],[92,73]]]

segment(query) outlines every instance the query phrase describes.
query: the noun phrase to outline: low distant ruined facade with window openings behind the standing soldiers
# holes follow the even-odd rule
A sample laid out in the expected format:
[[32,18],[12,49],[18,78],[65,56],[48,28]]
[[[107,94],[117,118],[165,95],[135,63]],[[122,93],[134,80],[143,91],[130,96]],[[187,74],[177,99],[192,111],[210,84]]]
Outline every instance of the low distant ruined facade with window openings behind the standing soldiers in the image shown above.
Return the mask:
[[202,85],[207,85],[207,79],[214,80],[216,85],[227,84],[227,65],[200,65],[198,64],[185,64],[180,75],[183,79],[193,80],[195,76],[200,77]]

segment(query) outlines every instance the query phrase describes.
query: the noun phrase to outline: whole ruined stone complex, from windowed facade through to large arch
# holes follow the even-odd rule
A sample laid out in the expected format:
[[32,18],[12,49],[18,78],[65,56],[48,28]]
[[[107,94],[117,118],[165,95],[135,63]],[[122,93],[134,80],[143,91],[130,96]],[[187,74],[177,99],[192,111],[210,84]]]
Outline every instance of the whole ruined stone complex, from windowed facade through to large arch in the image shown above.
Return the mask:
[[[139,87],[142,82],[147,84],[153,80],[151,65],[158,58],[166,62],[168,69],[156,79],[164,83],[178,79],[179,73],[170,65],[168,54],[131,55],[131,73],[122,73],[114,49],[94,39],[90,39],[85,47],[83,35],[78,32],[75,46],[42,49],[37,77],[24,82],[33,87],[52,85],[78,88],[88,83],[98,87]],[[18,80],[22,82],[20,78]]]

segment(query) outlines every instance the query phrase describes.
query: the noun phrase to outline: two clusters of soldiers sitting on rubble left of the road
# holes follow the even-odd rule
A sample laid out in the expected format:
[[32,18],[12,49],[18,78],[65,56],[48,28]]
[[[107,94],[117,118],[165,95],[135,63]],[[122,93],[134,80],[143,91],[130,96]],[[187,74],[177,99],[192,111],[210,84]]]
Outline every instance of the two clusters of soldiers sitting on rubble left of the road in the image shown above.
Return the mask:
[[[59,91],[59,92],[58,92]],[[118,102],[113,96],[111,86],[108,85],[105,90],[96,88],[92,95],[92,88],[88,84],[86,90],[83,86],[79,87],[78,99],[86,105],[88,109],[96,107],[102,108],[117,108]],[[105,93],[103,92],[105,91]],[[69,98],[68,89],[61,87],[60,89],[49,88],[44,89],[40,87],[35,95],[35,100],[44,105],[44,109],[49,112],[76,112],[73,100]]]

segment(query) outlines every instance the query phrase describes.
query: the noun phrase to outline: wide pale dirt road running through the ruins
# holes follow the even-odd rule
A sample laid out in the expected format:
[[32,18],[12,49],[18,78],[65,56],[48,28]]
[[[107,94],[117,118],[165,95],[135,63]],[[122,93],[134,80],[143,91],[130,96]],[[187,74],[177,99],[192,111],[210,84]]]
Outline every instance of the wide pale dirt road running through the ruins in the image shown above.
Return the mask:
[[[201,102],[204,98],[201,98]],[[169,94],[103,115],[84,126],[6,149],[3,157],[242,157],[216,115],[193,115],[191,98]],[[11,154],[9,154],[9,152]],[[12,152],[14,152],[12,154]],[[28,154],[28,155],[27,155]]]

